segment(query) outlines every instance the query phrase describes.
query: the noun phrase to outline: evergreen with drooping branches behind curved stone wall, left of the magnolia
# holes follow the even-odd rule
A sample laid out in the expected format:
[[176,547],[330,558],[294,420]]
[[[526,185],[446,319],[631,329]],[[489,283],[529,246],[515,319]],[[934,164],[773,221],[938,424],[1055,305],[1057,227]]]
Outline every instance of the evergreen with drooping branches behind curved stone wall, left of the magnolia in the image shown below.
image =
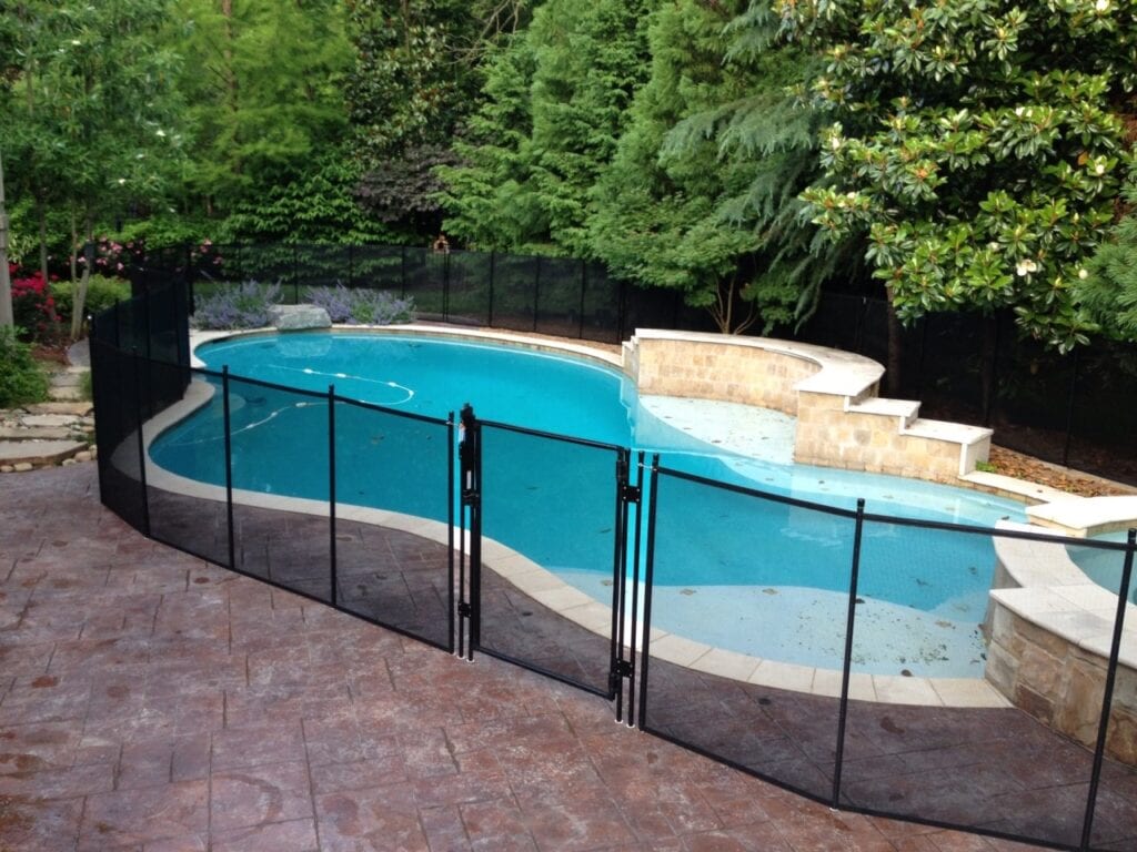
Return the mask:
[[769,22],[736,18],[745,6],[680,0],[655,14],[652,78],[590,223],[615,273],[682,290],[723,332],[806,317],[837,256],[797,216],[818,120],[786,94],[803,60],[756,37]]

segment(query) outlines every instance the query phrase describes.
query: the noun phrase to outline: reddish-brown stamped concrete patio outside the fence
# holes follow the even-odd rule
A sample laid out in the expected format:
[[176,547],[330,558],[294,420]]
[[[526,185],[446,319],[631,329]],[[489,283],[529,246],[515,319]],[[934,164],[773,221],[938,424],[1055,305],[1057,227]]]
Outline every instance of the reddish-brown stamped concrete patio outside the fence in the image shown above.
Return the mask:
[[1028,849],[839,813],[0,477],[0,850]]

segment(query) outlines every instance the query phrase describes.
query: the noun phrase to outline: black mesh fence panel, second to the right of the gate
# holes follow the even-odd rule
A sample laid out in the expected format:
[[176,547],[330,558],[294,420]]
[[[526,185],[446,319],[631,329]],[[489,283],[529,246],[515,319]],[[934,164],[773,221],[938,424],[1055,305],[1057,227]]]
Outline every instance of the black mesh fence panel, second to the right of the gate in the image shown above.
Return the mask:
[[[1029,623],[988,607],[993,578],[1009,582],[991,536],[866,520],[863,542],[841,802],[1077,844],[1092,754],[1004,698],[1049,718],[1061,677]],[[1064,558],[1055,542],[997,549],[1009,563]]]

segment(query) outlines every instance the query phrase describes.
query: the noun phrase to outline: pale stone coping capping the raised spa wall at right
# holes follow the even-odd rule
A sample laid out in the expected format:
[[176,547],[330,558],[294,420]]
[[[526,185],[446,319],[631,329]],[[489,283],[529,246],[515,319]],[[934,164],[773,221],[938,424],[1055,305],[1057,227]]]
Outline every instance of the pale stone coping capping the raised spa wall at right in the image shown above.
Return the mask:
[[[1038,527],[1001,520],[998,529],[1038,533]],[[1051,541],[995,537],[995,554],[1018,588],[990,596],[1036,627],[1105,659],[1113,643],[1118,595],[1092,582],[1067,552],[1077,540],[1054,533]],[[1121,558],[1121,552],[1118,552]],[[1121,662],[1137,668],[1137,607],[1126,604]]]

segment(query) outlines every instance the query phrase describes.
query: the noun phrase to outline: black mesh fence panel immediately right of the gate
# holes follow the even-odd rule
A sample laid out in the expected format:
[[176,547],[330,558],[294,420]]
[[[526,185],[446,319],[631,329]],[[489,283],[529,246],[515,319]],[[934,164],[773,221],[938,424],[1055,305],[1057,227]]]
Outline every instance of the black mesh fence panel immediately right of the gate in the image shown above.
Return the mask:
[[665,471],[655,500],[646,729],[828,799],[853,521]]

